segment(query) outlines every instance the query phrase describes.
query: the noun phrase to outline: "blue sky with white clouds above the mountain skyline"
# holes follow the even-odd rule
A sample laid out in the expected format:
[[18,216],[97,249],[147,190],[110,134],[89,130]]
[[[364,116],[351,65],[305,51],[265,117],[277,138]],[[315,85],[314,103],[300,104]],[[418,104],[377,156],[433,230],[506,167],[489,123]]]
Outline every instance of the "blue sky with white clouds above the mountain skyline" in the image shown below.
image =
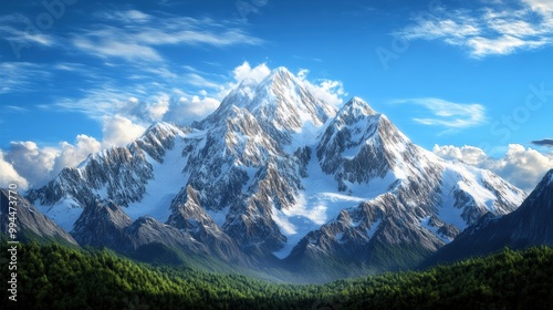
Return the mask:
[[200,120],[241,79],[286,66],[530,190],[553,167],[553,1],[367,2],[3,1],[0,186]]

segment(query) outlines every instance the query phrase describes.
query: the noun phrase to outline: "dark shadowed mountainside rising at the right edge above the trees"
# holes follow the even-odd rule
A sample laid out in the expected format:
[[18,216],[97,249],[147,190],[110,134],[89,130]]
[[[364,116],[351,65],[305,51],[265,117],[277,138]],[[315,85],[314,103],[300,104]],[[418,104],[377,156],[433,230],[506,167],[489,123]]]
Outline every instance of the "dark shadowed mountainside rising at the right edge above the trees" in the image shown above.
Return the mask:
[[517,210],[504,216],[487,214],[436,252],[425,265],[484,256],[504,247],[524,249],[531,246],[553,246],[551,223],[553,223],[553,169],[543,177]]

